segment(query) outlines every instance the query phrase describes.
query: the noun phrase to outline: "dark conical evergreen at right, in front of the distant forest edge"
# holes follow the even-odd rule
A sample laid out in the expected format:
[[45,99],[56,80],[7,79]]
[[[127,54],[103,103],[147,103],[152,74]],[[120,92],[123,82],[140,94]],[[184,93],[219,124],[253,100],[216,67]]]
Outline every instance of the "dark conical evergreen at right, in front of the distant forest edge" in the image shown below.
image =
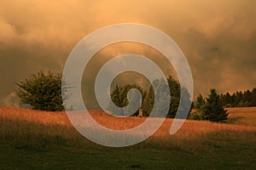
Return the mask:
[[228,119],[228,113],[224,110],[222,99],[215,89],[211,89],[206,105],[201,109],[202,118],[211,122],[224,122]]

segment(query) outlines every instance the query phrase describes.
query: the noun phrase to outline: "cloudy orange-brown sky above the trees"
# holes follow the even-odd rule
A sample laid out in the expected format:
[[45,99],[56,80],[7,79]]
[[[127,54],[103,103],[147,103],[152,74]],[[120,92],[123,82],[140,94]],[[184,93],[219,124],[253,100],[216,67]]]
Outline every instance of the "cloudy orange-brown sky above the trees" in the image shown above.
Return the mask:
[[[15,82],[42,69],[62,72],[82,38],[120,23],[153,26],[172,37],[188,59],[195,96],[207,95],[210,88],[219,93],[255,88],[255,7],[254,0],[2,0],[0,106],[18,105]],[[129,52],[155,60],[166,75],[170,72],[175,77],[154,49],[127,42],[113,44],[96,54],[85,69],[84,95],[91,94],[90,82],[104,62]]]

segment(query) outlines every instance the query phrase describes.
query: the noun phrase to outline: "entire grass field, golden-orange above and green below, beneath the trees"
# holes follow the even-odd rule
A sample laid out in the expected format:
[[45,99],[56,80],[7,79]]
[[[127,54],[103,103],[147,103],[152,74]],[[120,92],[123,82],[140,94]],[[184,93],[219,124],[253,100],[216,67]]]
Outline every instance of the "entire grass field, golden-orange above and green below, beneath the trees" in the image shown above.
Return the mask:
[[[64,112],[0,108],[0,169],[256,169],[256,108],[231,108],[227,124],[187,120],[169,135],[166,119],[152,137],[125,148],[84,139]],[[113,129],[146,118],[91,111]]]

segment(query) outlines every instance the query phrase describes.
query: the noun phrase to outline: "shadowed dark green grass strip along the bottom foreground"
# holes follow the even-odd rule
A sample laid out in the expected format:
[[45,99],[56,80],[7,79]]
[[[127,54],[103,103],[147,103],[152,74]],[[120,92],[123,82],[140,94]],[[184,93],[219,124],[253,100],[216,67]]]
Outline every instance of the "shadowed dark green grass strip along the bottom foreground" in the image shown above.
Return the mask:
[[[1,169],[253,169],[255,147],[204,141],[204,149],[87,148],[47,149],[1,144]],[[235,147],[234,147],[235,146]],[[193,146],[190,146],[193,147]],[[4,154],[3,154],[4,153]]]

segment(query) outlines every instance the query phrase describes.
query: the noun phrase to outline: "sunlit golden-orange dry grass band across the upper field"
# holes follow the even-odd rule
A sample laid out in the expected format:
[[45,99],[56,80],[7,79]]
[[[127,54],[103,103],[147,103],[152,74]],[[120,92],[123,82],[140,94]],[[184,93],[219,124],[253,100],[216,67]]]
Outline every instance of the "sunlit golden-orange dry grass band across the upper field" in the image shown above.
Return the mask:
[[[246,126],[251,125],[256,121],[256,108],[232,108],[228,109],[230,112],[230,118],[241,117],[242,120],[234,124],[224,123],[212,123],[205,121],[190,121],[186,120],[183,123],[177,133],[174,135],[169,134],[169,130],[172,124],[172,119],[166,119],[162,126],[154,133],[154,137],[158,139],[177,138],[177,139],[197,139],[207,133],[242,133],[242,132],[255,132],[256,127]],[[247,115],[249,113],[250,115]],[[254,115],[253,115],[254,114]],[[90,111],[90,115],[102,124],[102,126],[112,129],[128,129],[131,127],[137,127],[143,123],[146,117],[114,117],[109,116],[104,111]],[[26,122],[35,122],[50,126],[64,126],[72,127],[65,112],[50,112],[50,111],[32,111],[26,109],[15,108],[0,108],[0,117],[9,120],[22,120]],[[238,125],[237,125],[238,124]]]

